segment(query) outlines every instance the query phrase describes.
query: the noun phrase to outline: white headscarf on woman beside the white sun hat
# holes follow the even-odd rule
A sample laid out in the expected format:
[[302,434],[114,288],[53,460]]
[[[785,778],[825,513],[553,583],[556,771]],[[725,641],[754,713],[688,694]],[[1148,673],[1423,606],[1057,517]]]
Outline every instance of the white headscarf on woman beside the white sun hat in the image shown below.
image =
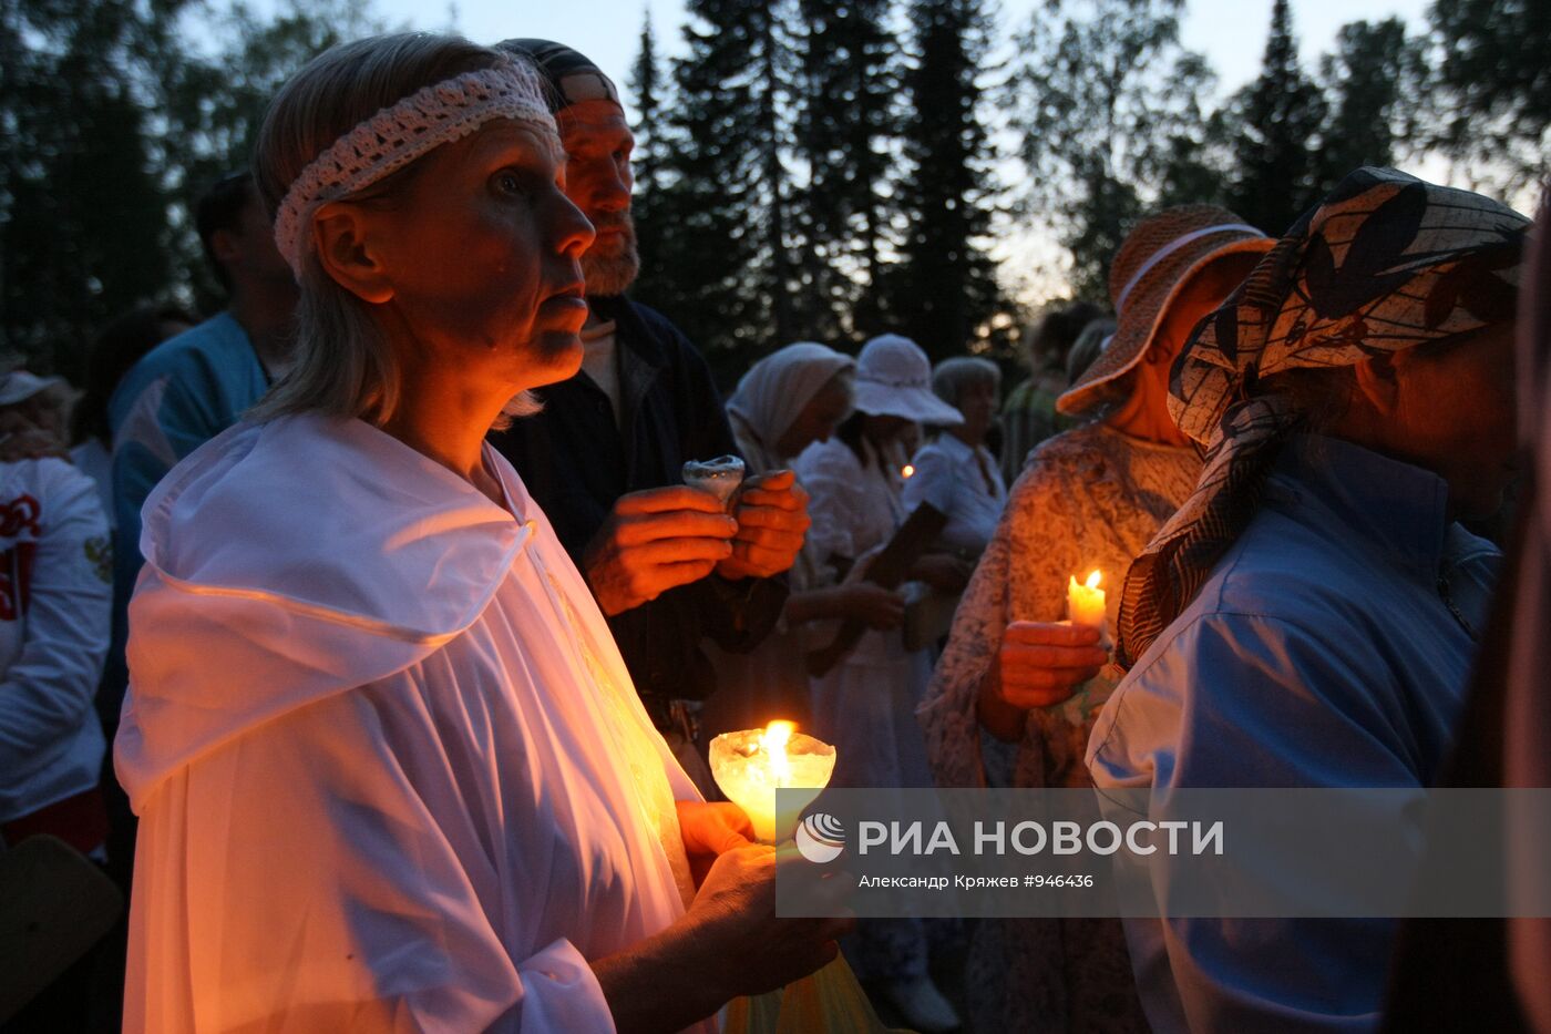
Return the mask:
[[855,368],[856,360],[850,356],[814,342],[788,345],[749,366],[727,399],[727,416],[743,458],[755,474],[789,460],[777,455],[776,442],[834,374]]

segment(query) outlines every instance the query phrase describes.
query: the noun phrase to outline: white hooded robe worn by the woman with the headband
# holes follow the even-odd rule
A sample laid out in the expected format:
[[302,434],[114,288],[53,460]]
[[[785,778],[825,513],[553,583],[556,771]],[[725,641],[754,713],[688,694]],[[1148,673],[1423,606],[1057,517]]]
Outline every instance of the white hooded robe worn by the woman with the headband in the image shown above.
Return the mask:
[[239,424],[147,500],[126,1031],[613,1029],[586,959],[684,914],[696,793],[485,464],[526,520],[316,416]]

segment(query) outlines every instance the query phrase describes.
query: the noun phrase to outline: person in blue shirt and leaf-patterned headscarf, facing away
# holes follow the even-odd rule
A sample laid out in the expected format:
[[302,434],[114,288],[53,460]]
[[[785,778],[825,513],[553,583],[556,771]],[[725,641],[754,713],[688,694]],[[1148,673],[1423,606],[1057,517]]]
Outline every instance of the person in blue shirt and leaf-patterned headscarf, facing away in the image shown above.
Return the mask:
[[[1210,450],[1126,581],[1134,666],[1090,739],[1100,787],[1432,782],[1497,557],[1455,522],[1512,475],[1526,228],[1359,169],[1200,324],[1169,408]],[[1377,1020],[1391,921],[1126,925],[1155,1031]]]

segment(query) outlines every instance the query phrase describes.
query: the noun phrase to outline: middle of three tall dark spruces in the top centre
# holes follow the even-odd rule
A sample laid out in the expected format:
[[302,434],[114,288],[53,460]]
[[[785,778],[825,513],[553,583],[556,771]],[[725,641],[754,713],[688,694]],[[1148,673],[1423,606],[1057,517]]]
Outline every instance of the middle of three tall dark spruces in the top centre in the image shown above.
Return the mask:
[[889,157],[898,132],[890,0],[800,0],[800,304],[807,334],[844,342],[883,318]]

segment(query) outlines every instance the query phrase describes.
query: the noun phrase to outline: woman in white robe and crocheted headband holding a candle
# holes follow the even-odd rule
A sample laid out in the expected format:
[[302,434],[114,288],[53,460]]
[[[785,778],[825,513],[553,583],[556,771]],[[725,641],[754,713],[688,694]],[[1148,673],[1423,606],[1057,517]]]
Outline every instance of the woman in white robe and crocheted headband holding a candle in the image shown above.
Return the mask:
[[484,444],[582,360],[560,155],[532,67],[448,36],[337,47],[270,107],[298,362],[146,506],[129,1031],[710,1028],[833,958]]

